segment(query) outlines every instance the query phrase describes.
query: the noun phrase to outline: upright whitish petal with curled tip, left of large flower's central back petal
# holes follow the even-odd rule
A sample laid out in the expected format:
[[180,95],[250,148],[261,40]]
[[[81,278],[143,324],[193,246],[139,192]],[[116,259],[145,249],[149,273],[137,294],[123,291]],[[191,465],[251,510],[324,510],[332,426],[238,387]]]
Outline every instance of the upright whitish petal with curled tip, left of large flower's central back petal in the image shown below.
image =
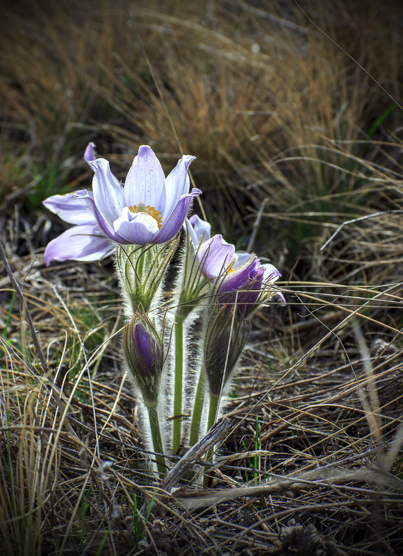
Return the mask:
[[122,186],[110,171],[108,160],[97,158],[88,163],[95,172],[92,180],[95,205],[109,224],[113,224],[125,205]]

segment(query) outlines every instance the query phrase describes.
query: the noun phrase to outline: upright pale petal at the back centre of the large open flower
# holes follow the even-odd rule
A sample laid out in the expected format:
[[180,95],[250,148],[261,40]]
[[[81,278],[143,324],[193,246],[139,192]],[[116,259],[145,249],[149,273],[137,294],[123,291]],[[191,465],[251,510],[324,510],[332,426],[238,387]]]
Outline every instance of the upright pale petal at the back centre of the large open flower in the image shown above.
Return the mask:
[[140,146],[124,184],[126,206],[149,205],[163,213],[165,208],[165,175],[154,151]]

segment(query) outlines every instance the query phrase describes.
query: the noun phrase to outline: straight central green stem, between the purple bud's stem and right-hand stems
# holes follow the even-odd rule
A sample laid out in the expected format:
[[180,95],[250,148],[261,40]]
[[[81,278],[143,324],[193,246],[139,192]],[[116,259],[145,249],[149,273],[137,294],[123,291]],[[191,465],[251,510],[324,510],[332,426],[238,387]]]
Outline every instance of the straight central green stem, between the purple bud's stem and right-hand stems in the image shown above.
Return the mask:
[[172,453],[176,454],[182,441],[182,391],[183,391],[183,317],[176,315],[175,323],[175,377],[174,377],[174,425],[172,430]]

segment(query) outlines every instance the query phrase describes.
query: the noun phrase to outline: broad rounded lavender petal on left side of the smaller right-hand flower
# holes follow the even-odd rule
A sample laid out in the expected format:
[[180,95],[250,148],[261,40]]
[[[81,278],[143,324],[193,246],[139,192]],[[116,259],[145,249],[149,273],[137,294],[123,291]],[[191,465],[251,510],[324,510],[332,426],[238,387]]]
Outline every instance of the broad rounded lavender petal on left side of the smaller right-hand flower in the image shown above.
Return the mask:
[[199,246],[197,261],[201,264],[206,276],[210,280],[214,280],[227,270],[234,254],[235,247],[224,241],[221,234],[217,234]]

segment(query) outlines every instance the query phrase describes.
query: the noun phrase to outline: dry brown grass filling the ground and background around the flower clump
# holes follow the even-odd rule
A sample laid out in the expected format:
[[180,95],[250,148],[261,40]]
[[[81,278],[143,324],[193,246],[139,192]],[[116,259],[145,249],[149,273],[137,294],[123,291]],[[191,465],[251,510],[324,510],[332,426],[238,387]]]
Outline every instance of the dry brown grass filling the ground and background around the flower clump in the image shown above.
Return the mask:
[[[399,3],[302,6],[371,78],[291,3],[136,2],[163,102],[123,4],[49,4],[0,22],[1,239],[27,304],[2,271],[2,554],[399,555]],[[122,178],[139,143],[197,155],[216,230],[283,272],[214,487],[147,471],[111,265],[44,267],[40,201],[88,187],[88,140]]]

